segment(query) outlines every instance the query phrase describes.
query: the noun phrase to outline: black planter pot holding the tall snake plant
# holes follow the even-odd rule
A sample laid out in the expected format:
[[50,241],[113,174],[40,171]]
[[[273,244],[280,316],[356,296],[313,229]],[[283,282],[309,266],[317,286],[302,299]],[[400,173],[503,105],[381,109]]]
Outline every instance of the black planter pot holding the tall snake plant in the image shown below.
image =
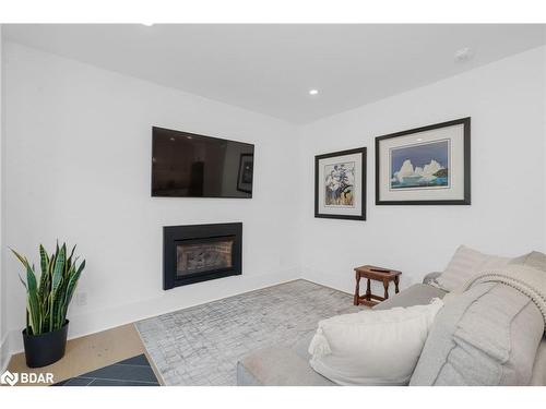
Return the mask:
[[40,335],[27,335],[26,328],[23,329],[23,342],[28,368],[50,365],[64,356],[68,324],[69,321],[67,320],[61,328]]

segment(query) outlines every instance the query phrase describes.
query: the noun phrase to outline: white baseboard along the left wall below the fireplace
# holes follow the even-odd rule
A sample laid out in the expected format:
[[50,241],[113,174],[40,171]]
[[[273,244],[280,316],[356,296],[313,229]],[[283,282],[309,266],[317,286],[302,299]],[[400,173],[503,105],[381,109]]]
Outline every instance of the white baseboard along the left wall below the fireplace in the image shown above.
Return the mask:
[[[183,302],[176,297],[169,297],[168,299],[165,299],[165,297],[161,297],[139,301],[135,303],[122,304],[106,310],[94,310],[87,313],[69,316],[69,339],[99,333],[102,330],[115,328],[120,325],[134,323],[136,321],[146,320],[153,316],[224,299],[227,297],[237,296],[244,292],[293,281],[299,278],[301,278],[301,274],[299,268],[297,267],[288,268],[275,274],[229,277],[228,279],[238,280],[236,285],[232,286],[230,290],[227,290],[225,292],[221,291],[221,293],[218,293],[218,297],[214,298],[206,298],[205,296],[202,296],[192,298],[191,300]],[[9,357],[11,357],[11,354],[23,351],[21,329],[10,330],[5,339],[8,345],[10,346],[10,348],[8,349]]]

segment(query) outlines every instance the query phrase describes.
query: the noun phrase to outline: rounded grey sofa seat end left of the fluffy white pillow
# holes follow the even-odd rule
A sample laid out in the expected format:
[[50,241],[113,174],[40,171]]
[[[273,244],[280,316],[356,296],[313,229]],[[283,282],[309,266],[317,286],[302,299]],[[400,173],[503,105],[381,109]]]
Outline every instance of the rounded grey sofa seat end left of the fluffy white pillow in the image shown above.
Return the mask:
[[237,362],[240,386],[331,386],[309,362],[293,349],[271,347],[256,350]]

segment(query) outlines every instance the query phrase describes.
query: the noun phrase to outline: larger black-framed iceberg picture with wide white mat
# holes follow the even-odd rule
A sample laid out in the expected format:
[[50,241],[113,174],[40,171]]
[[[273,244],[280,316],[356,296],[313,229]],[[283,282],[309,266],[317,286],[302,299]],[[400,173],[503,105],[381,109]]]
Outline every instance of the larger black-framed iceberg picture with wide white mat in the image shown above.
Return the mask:
[[470,205],[471,119],[376,137],[377,205]]

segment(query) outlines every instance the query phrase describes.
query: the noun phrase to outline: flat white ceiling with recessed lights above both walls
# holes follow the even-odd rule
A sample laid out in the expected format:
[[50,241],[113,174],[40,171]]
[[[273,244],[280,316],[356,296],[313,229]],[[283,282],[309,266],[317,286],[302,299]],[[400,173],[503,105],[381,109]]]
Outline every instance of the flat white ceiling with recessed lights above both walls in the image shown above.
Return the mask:
[[[306,123],[546,43],[545,25],[4,25],[31,47]],[[456,50],[475,56],[455,63]],[[320,89],[310,96],[310,88]]]

